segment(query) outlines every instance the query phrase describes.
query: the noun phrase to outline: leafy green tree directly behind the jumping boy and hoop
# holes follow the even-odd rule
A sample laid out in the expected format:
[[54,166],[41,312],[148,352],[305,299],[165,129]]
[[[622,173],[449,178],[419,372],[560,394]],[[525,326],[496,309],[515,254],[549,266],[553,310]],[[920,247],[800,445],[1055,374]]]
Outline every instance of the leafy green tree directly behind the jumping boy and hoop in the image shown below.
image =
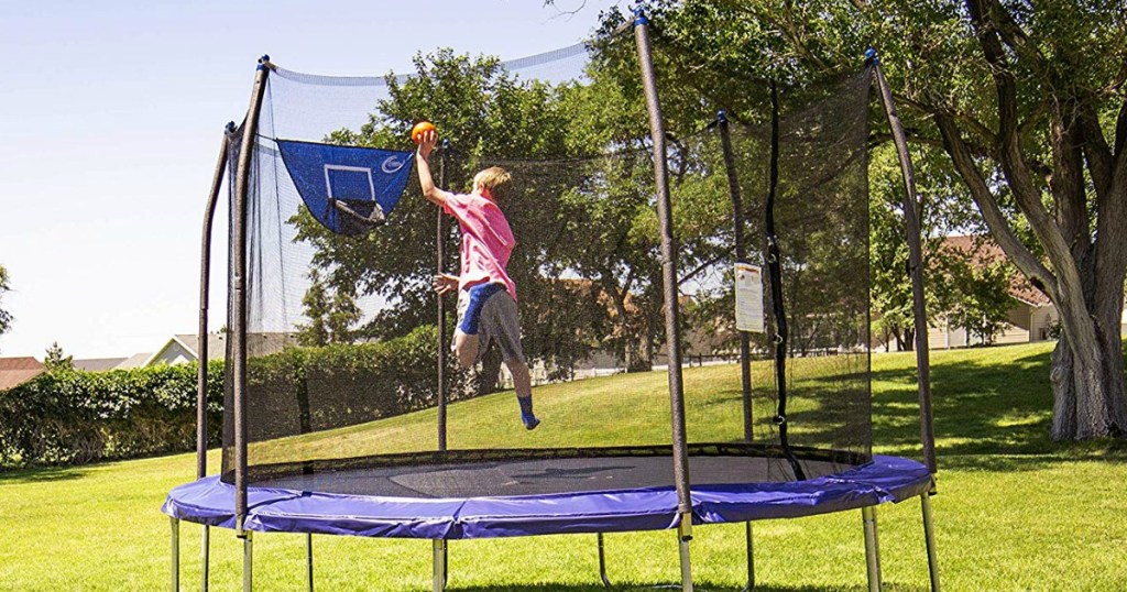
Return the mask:
[[[366,125],[339,130],[328,140],[394,147],[403,143],[416,120],[434,121],[452,147],[446,170],[452,191],[467,191],[472,175],[485,166],[520,166],[505,162],[506,158],[562,159],[576,153],[567,143],[574,124],[561,99],[566,88],[518,82],[495,58],[455,55],[449,50],[416,56],[415,70],[406,81],[389,77],[390,98],[376,106]],[[485,162],[482,154],[502,162]],[[566,160],[554,168],[544,164],[513,173],[515,187],[503,207],[520,240],[508,272],[518,285],[524,346],[531,359],[570,369],[597,345],[589,339],[594,330],[586,309],[592,301],[568,298],[554,285],[562,271],[560,253],[575,244],[564,232],[560,213],[562,182],[573,175]],[[434,322],[435,209],[418,193],[417,183],[408,184],[394,226],[365,240],[334,235],[308,212],[291,220],[298,239],[316,248],[313,286],[303,301],[310,319],[302,327],[304,341],[385,339]],[[447,237],[450,254],[458,251],[453,238],[453,233]],[[357,326],[356,301],[371,297],[384,299],[387,306]],[[496,383],[499,365],[499,356],[486,357],[479,390]]]

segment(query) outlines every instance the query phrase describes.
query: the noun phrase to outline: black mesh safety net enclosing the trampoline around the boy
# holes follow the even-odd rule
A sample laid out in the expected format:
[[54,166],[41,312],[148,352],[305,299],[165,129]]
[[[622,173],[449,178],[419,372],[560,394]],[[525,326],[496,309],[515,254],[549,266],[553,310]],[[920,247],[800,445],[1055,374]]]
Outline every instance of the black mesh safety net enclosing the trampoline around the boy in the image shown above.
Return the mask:
[[[444,53],[420,60],[410,77],[272,70],[247,198],[248,483],[420,496],[673,485],[645,104],[637,64],[603,59],[629,55],[631,44],[612,37],[597,51],[578,45],[513,62]],[[767,333],[753,336],[754,438],[744,440],[733,205],[718,130],[671,144],[683,348],[700,366],[685,373],[693,483],[792,480],[870,454],[868,85],[866,72],[806,105],[782,94],[774,217],[789,442],[775,421],[770,298]],[[730,131],[747,251],[767,279],[770,103],[762,108],[754,125],[734,122]],[[330,198],[370,184],[366,204],[353,189],[350,201],[314,204],[302,194],[309,179],[285,158],[289,141],[406,153],[407,132],[423,117],[451,141],[432,158],[451,191],[467,192],[490,166],[513,176],[499,205],[517,239],[508,272],[522,345],[534,383],[553,383],[534,391],[544,424],[525,431],[512,391],[492,394],[498,375],[506,380],[496,350],[468,371],[449,356],[446,451],[437,450],[436,406],[438,352],[449,343],[437,343],[431,281],[456,270],[456,223],[436,235],[436,207],[414,171],[398,203],[381,202],[384,219],[372,221],[379,191],[364,167],[326,165],[323,184]],[[403,157],[388,154],[379,162],[390,175]],[[326,222],[330,210],[336,222]],[[446,270],[436,266],[440,240]],[[446,307],[449,336],[452,299]],[[232,383],[227,480],[236,465]]]

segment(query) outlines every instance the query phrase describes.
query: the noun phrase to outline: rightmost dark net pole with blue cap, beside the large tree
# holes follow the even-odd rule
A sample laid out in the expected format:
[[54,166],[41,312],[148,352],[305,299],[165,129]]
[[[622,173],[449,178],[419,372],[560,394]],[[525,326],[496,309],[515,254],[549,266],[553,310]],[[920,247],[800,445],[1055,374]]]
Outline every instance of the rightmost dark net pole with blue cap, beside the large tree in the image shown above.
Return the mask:
[[931,410],[931,361],[928,347],[928,310],[923,288],[923,245],[921,240],[919,197],[915,191],[915,170],[912,166],[912,154],[908,152],[907,134],[899,115],[896,114],[896,103],[893,91],[888,88],[885,72],[880,69],[877,52],[866,52],[872,63],[877,78],[877,89],[880,91],[880,103],[888,117],[888,126],[893,131],[893,143],[896,145],[896,157],[900,162],[900,176],[904,178],[904,231],[908,242],[908,273],[912,279],[912,320],[915,328],[916,350],[916,388],[920,391],[920,441],[923,444],[924,463],[934,475],[939,467],[935,462],[935,430],[932,424]]

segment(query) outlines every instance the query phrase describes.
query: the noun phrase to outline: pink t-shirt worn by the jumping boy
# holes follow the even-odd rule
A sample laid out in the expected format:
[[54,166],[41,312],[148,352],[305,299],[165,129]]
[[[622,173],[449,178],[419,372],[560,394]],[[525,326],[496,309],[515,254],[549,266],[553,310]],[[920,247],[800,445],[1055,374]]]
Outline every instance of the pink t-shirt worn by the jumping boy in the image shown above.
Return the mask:
[[505,271],[516,239],[500,207],[480,195],[453,194],[446,198],[445,209],[462,229],[458,288],[469,290],[478,284],[503,283],[516,300],[516,284]]

